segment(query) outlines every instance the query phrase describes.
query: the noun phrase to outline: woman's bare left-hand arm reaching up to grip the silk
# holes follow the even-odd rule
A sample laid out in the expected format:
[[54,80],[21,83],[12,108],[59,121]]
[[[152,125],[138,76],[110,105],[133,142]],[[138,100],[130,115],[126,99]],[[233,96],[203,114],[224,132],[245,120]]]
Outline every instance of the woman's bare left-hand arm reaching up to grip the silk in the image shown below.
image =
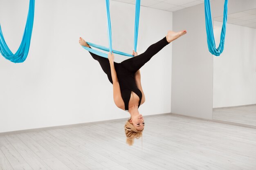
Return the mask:
[[118,108],[124,109],[124,100],[122,99],[122,96],[121,96],[120,85],[119,85],[119,82],[117,79],[117,72],[116,72],[115,66],[114,66],[114,55],[111,54],[110,52],[108,53],[108,60],[110,63],[111,77],[112,77],[112,81],[113,81],[114,102]]

